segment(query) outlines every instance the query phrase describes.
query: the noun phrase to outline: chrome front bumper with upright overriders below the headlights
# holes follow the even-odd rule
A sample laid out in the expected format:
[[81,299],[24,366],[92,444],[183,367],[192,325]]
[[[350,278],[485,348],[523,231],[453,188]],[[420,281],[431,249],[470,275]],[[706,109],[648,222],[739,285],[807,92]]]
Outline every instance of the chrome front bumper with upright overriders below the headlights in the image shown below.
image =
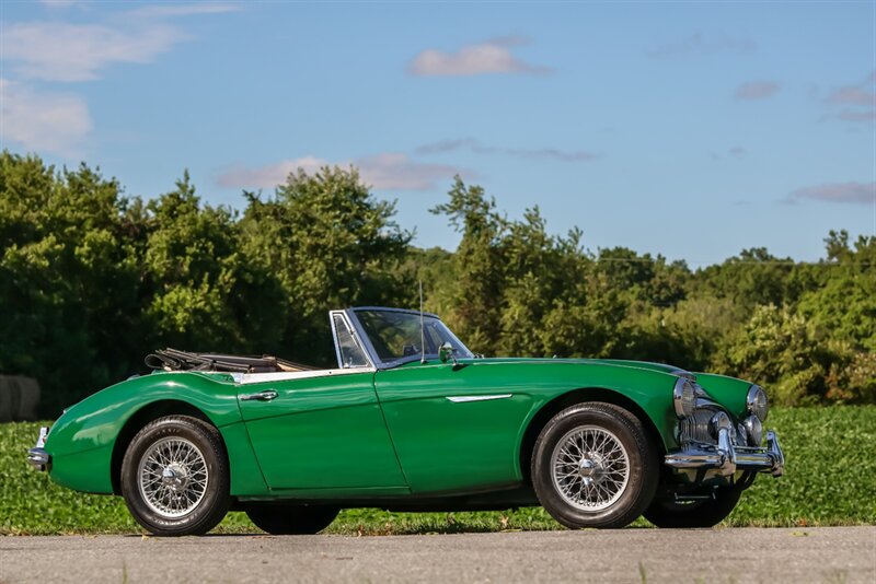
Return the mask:
[[666,455],[665,463],[672,468],[712,469],[724,476],[737,470],[756,470],[781,477],[785,472],[785,455],[775,432],[766,432],[766,447],[737,446],[729,432],[722,430],[718,443],[695,444],[683,451]]

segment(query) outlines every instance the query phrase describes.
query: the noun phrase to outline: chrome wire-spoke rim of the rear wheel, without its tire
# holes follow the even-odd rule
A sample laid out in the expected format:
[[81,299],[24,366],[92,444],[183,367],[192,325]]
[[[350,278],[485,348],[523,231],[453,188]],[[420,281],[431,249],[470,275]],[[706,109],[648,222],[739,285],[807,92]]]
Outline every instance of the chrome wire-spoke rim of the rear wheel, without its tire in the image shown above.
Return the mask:
[[192,513],[204,499],[210,479],[200,449],[176,436],[159,440],[147,448],[137,477],[143,502],[165,518]]

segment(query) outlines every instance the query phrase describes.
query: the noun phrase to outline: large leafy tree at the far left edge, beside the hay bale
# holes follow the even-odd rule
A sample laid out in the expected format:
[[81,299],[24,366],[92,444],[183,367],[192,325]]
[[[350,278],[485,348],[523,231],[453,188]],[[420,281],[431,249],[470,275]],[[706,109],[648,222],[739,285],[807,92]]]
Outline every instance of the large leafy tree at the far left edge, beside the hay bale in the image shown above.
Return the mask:
[[8,151],[0,192],[0,371],[38,377],[55,412],[131,371],[131,344],[119,339],[137,331],[128,201],[84,164],[56,172]]

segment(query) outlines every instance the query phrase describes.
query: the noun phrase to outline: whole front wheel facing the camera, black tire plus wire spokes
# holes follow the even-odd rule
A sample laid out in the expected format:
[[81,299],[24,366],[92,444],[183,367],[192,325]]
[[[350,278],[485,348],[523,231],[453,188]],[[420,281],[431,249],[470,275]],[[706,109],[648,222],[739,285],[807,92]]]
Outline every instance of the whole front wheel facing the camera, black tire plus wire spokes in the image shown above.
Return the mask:
[[[561,442],[577,441],[577,432],[581,432],[580,456],[573,460],[563,454]],[[615,448],[613,455],[600,454],[601,439],[604,447],[620,445],[620,449]],[[569,448],[565,452],[574,453]],[[562,469],[557,470],[557,477],[563,472],[569,476],[555,478],[555,457]],[[619,486],[622,479],[624,482]],[[658,480],[657,448],[642,422],[611,404],[592,401],[566,408],[545,424],[535,441],[532,454],[535,494],[553,518],[573,529],[629,525],[654,499]],[[575,487],[579,484],[588,484],[590,494],[581,497],[579,492],[578,501],[573,501]],[[603,497],[602,488],[613,494]]]

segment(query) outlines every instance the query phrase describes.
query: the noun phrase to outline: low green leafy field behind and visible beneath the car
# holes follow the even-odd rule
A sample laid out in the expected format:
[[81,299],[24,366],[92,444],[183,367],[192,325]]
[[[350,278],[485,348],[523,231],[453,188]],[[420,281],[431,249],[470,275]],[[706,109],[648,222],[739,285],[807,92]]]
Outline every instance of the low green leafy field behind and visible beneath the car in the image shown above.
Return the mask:
[[[0,535],[141,533],[117,497],[61,489],[25,462],[39,423],[0,424]],[[814,526],[876,524],[876,406],[776,409],[787,457],[779,480],[759,477],[727,525]],[[634,526],[649,525],[639,519]],[[494,513],[387,513],[351,510],[335,534],[407,534],[561,528],[540,507]],[[218,527],[257,533],[242,513]]]

